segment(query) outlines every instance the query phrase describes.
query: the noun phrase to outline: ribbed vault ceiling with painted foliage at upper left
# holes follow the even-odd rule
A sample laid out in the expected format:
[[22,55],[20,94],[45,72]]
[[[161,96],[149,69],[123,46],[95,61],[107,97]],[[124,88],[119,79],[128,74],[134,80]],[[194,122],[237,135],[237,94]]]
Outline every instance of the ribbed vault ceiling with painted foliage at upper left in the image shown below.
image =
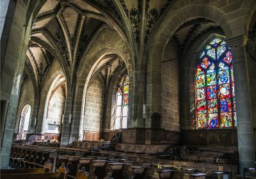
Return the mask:
[[[98,18],[99,17],[99,18]],[[31,29],[26,65],[40,84],[54,57],[68,71],[75,70],[95,32],[106,24],[102,14],[80,0],[49,0]]]

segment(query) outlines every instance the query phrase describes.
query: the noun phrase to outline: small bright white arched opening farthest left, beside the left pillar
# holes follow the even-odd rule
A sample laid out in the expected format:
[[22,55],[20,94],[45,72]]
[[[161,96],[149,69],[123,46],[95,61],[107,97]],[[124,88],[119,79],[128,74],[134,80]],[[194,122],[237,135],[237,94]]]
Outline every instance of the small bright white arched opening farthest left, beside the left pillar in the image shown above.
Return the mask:
[[20,139],[22,140],[26,139],[26,134],[28,133],[30,112],[31,112],[31,106],[27,104],[23,107],[20,115],[19,134],[20,134]]

